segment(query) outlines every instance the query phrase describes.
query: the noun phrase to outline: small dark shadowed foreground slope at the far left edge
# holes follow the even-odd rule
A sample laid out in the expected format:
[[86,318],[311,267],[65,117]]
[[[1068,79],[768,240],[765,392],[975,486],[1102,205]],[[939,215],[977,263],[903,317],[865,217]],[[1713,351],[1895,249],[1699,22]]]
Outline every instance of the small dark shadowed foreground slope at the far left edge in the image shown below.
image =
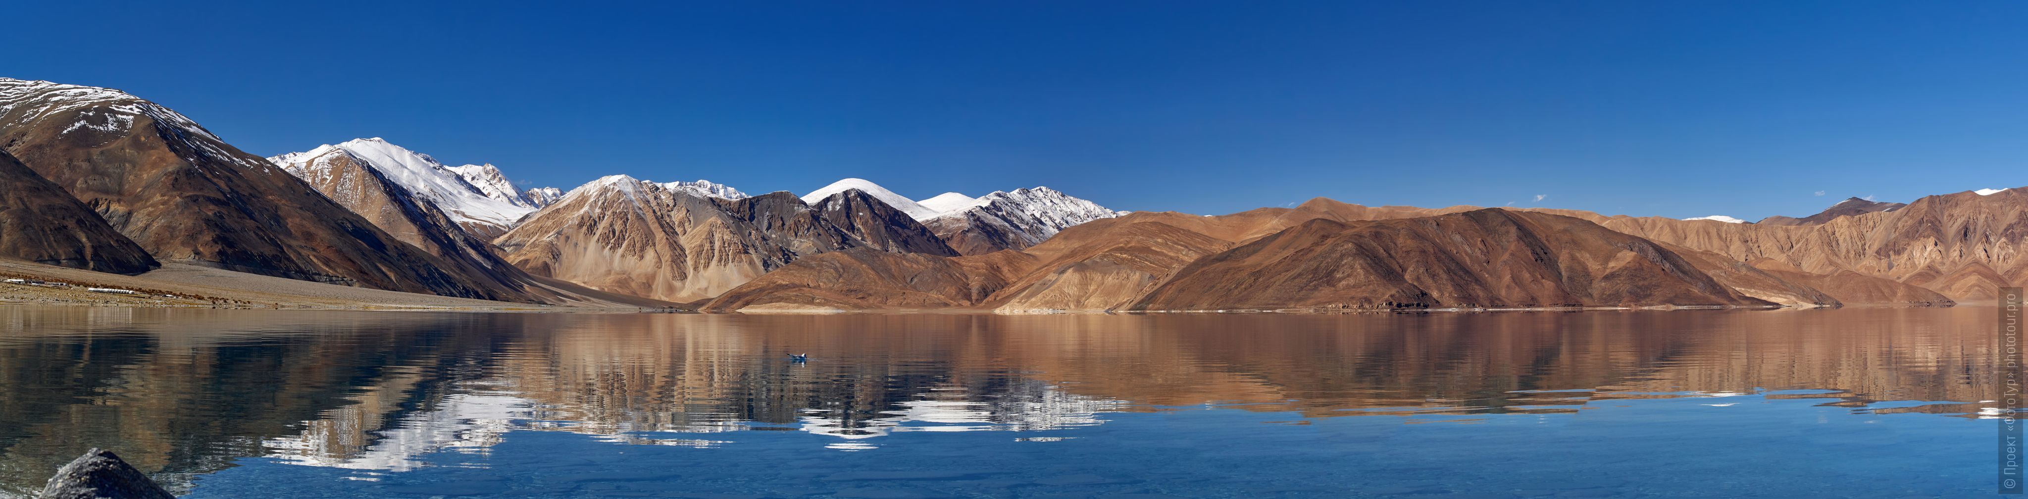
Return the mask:
[[0,258],[140,274],[158,264],[71,193],[0,150]]

